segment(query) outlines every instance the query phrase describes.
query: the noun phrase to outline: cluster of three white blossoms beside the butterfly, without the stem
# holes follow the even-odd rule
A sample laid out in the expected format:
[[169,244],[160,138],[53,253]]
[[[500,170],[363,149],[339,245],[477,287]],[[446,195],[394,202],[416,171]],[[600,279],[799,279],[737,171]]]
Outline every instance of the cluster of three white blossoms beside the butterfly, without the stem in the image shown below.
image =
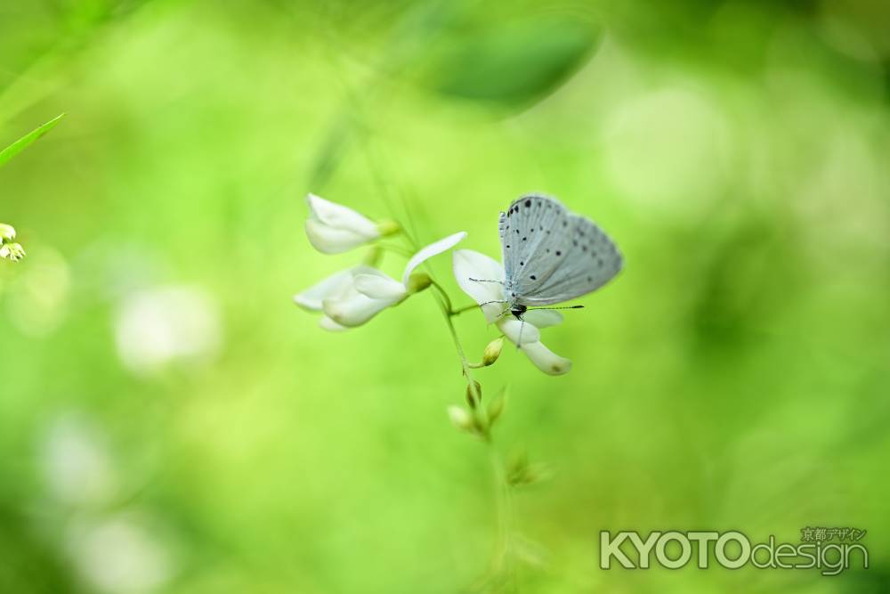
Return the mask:
[[[309,194],[306,201],[309,206],[306,235],[312,246],[323,254],[343,253],[399,232],[397,224],[374,222],[352,208],[314,194]],[[454,248],[465,236],[465,232],[454,233],[419,249],[406,264],[401,281],[377,270],[372,265],[375,258],[371,258],[371,263],[357,264],[328,276],[296,294],[294,301],[306,310],[321,313],[319,324],[325,330],[340,331],[360,326],[384,309],[399,305],[411,295],[428,288],[433,281],[429,275],[415,272],[417,267],[429,258]],[[569,372],[571,362],[544,346],[540,335],[540,329],[560,323],[562,315],[554,311],[530,310],[522,316],[522,320],[516,319],[505,305],[504,267],[489,256],[469,249],[456,250],[453,270],[457,284],[473,297],[485,320],[495,324],[502,337],[513,342],[539,370],[550,375]],[[448,312],[449,316],[456,313]],[[482,362],[473,367],[495,362],[503,338],[493,341],[483,354]]]

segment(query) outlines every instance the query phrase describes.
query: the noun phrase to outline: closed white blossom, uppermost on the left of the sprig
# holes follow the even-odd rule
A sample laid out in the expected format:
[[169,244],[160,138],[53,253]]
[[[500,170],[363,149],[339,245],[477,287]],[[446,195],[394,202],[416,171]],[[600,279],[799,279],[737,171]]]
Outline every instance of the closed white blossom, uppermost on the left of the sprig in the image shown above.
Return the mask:
[[392,222],[377,224],[352,208],[315,194],[306,196],[306,203],[309,205],[306,235],[312,247],[322,254],[341,254],[398,230]]

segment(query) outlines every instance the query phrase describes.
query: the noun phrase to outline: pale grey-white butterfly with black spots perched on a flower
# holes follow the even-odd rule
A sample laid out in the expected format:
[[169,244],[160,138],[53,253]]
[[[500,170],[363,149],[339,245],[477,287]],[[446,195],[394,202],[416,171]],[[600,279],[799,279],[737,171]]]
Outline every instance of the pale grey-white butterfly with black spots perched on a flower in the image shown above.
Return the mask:
[[562,303],[599,289],[624,264],[602,229],[549,196],[515,199],[500,214],[498,231],[504,297],[517,319],[529,307]]

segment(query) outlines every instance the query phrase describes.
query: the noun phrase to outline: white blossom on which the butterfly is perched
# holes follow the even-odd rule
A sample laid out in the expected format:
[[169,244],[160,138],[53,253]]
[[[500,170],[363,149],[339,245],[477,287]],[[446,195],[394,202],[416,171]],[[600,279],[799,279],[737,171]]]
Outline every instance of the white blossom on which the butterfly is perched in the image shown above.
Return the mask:
[[454,276],[460,288],[481,305],[485,320],[497,324],[498,330],[519,346],[539,370],[549,375],[562,375],[571,370],[571,362],[544,346],[538,331],[560,323],[562,315],[533,309],[522,316],[522,321],[516,320],[509,312],[504,314],[507,305],[503,284],[470,280],[504,281],[504,267],[497,260],[471,249],[458,249],[454,253]]

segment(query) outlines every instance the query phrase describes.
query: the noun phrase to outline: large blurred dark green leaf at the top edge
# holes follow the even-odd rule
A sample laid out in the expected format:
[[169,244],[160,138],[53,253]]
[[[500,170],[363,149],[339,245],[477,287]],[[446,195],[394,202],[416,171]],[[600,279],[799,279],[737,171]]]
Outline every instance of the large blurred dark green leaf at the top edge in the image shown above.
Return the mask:
[[574,74],[595,50],[599,31],[578,20],[522,20],[466,37],[433,61],[433,88],[517,108],[552,94]]

